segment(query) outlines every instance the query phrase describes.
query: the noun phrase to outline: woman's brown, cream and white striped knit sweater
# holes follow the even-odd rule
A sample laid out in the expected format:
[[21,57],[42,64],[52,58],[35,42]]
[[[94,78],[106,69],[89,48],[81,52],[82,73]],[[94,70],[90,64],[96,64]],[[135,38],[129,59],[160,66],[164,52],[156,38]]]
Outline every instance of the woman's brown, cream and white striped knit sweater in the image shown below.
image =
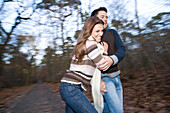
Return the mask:
[[75,57],[72,58],[70,69],[64,74],[61,82],[80,84],[81,87],[86,90],[90,85],[90,80],[93,77],[96,66],[104,60],[97,47],[96,41],[86,41],[86,52],[80,63],[75,62]]

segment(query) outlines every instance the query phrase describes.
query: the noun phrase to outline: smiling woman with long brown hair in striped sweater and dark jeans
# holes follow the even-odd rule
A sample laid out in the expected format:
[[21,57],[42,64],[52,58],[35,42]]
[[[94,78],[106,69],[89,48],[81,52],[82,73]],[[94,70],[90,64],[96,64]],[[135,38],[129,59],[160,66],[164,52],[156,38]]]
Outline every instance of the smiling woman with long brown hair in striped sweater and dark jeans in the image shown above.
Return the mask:
[[88,18],[75,45],[70,69],[61,79],[60,86],[61,97],[66,103],[66,113],[97,113],[83,90],[90,85],[98,63],[104,60],[102,51],[107,52],[107,44],[101,46],[99,43],[103,35],[103,25],[98,17]]

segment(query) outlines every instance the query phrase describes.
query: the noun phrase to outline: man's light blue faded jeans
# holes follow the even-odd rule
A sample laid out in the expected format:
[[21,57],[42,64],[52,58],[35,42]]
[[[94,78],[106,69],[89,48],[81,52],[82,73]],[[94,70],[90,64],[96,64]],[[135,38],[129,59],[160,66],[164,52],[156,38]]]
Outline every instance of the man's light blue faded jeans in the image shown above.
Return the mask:
[[107,89],[103,113],[123,113],[123,89],[119,76],[103,77],[103,80]]

